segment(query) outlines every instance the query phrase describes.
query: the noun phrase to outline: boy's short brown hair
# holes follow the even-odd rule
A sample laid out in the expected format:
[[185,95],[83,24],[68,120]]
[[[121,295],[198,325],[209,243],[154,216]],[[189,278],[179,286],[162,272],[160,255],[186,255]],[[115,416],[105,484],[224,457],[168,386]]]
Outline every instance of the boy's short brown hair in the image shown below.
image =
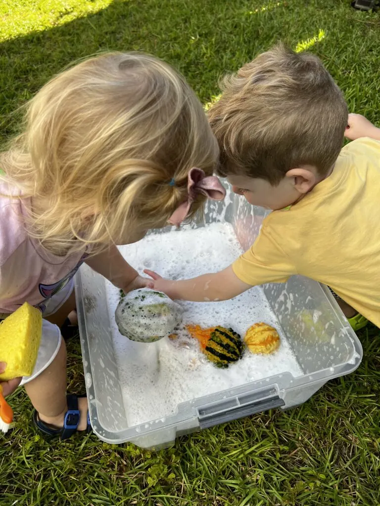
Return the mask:
[[319,58],[278,44],[225,77],[221,88],[209,110],[221,176],[277,185],[301,165],[328,173],[343,145],[348,110]]

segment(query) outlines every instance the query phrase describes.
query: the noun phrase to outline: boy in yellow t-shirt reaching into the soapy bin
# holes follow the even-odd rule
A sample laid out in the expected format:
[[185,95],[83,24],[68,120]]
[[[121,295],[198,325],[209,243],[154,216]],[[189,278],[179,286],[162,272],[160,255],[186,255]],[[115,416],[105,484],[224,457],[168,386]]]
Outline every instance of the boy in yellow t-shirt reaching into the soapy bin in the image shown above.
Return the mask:
[[[348,119],[316,56],[282,45],[226,78],[209,114],[220,175],[273,213],[230,267],[183,281],[147,271],[155,288],[173,299],[226,300],[301,274],[345,301],[354,328],[365,318],[380,326],[380,129]],[[345,134],[357,140],[341,149]]]

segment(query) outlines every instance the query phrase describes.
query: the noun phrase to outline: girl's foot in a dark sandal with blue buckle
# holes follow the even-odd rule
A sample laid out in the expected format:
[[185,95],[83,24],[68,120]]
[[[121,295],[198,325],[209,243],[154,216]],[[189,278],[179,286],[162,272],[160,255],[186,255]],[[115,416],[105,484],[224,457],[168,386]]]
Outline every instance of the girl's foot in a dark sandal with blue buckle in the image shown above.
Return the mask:
[[88,401],[86,396],[67,396],[67,408],[57,416],[34,413],[34,422],[40,431],[50,437],[67,439],[75,432],[90,432]]

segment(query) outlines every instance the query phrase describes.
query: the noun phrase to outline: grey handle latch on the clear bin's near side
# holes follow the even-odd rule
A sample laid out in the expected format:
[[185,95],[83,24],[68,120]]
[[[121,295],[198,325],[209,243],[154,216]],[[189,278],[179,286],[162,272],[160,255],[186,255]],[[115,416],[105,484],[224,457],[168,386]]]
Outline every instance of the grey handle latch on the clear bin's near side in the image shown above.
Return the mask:
[[285,401],[276,395],[270,399],[250,402],[232,409],[199,415],[199,426],[201,429],[208,429],[210,427],[214,427],[215,425],[225,424],[227,421],[237,420],[238,418],[243,418],[244,416],[259,413],[260,411],[267,411],[268,409],[279,408],[284,405]]

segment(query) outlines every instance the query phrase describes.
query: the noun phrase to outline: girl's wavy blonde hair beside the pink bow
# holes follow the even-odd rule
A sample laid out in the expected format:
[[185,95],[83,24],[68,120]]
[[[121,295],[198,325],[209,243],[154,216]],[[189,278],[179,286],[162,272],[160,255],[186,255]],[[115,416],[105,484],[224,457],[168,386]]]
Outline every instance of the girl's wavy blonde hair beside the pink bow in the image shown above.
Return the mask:
[[58,74],[30,100],[0,167],[32,197],[29,234],[65,255],[165,226],[186,199],[189,170],[211,175],[217,158],[181,75],[152,56],[111,53]]

